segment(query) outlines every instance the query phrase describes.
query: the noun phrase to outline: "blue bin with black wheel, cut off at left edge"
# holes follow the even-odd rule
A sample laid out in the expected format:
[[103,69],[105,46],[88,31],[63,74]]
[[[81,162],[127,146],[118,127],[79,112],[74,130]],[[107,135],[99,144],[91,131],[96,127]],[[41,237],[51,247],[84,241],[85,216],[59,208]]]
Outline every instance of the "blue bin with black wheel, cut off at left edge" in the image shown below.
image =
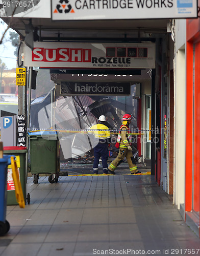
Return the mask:
[[[14,156],[15,157],[15,156]],[[6,220],[7,206],[7,169],[11,164],[11,156],[4,155],[0,158],[0,236],[4,236],[10,229],[10,224]]]

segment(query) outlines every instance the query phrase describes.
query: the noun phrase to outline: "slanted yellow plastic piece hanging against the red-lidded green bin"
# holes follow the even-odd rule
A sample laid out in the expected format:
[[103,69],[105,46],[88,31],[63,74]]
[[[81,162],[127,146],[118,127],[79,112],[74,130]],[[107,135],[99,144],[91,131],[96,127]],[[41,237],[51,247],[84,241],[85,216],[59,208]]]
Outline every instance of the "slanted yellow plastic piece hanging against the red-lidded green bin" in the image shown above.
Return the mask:
[[14,157],[11,157],[11,166],[12,166],[13,182],[14,182],[14,185],[15,185],[16,200],[17,200],[17,203],[19,204],[19,207],[24,208],[25,207],[25,202],[24,202],[24,198],[23,198],[21,183],[20,183],[20,180],[19,180],[19,174],[17,172],[17,163],[14,160]]

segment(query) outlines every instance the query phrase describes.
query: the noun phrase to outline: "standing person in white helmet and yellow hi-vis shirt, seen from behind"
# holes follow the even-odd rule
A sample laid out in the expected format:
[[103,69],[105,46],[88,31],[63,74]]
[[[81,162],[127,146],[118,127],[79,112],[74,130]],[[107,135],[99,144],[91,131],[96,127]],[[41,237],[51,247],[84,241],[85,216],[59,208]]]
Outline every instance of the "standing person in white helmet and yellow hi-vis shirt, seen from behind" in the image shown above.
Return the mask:
[[[100,157],[102,157],[102,167],[103,174],[108,174],[108,146],[111,142],[110,131],[105,125],[106,117],[99,116],[99,123],[90,127],[88,133],[94,135],[94,163],[93,163],[93,173],[98,174],[98,163]],[[93,131],[92,131],[93,130]]]

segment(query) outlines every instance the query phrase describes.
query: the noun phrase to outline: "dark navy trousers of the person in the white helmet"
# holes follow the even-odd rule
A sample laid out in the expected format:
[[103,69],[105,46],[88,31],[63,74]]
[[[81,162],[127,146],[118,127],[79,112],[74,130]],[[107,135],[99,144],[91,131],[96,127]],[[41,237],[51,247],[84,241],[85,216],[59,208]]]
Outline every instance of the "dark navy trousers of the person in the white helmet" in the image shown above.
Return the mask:
[[99,159],[102,157],[102,167],[103,169],[108,168],[108,144],[107,143],[98,143],[94,147],[94,163],[93,169],[98,168]]

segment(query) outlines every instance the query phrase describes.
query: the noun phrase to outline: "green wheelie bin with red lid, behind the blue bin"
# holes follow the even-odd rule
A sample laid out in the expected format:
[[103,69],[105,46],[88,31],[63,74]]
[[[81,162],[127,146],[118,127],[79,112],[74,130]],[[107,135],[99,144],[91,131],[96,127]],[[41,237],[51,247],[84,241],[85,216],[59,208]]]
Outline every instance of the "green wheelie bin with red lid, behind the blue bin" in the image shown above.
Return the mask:
[[[24,202],[30,204],[30,194],[27,194],[27,172],[26,172],[26,154],[27,147],[24,146],[4,146],[5,155],[13,155],[16,157],[17,169],[19,172],[19,180],[23,192]],[[15,196],[15,186],[12,178],[12,167],[8,166],[7,177],[7,205],[18,205]]]

